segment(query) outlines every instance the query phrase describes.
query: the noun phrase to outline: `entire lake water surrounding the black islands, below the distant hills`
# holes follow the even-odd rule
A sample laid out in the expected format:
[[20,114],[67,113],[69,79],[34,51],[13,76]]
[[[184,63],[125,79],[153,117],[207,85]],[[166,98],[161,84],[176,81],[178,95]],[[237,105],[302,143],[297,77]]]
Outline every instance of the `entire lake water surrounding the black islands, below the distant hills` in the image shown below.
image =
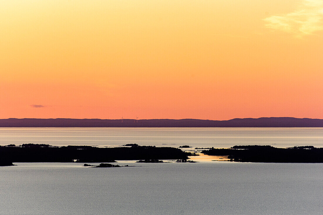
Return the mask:
[[[322,128],[0,128],[0,145],[323,147]],[[322,214],[323,164],[81,163],[0,167],[0,214]],[[91,163],[89,163],[91,164]],[[95,164],[95,163],[93,163]],[[95,164],[97,165],[97,164]]]

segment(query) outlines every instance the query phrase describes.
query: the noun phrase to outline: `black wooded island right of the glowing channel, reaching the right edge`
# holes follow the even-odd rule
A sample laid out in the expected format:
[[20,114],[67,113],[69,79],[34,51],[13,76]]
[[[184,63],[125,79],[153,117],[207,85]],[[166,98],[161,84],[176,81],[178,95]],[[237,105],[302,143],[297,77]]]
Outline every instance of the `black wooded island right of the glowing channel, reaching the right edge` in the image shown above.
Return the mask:
[[270,145],[236,145],[229,149],[203,150],[202,153],[228,156],[231,161],[236,162],[323,163],[323,148],[313,146],[275,148]]

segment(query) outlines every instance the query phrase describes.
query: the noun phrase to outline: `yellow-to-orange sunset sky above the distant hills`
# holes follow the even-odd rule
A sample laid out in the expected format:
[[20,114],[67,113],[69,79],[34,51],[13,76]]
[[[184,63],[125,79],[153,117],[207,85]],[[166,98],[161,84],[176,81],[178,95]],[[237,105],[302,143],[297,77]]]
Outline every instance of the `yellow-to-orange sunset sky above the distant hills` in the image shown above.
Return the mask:
[[323,0],[0,5],[1,119],[323,119]]

